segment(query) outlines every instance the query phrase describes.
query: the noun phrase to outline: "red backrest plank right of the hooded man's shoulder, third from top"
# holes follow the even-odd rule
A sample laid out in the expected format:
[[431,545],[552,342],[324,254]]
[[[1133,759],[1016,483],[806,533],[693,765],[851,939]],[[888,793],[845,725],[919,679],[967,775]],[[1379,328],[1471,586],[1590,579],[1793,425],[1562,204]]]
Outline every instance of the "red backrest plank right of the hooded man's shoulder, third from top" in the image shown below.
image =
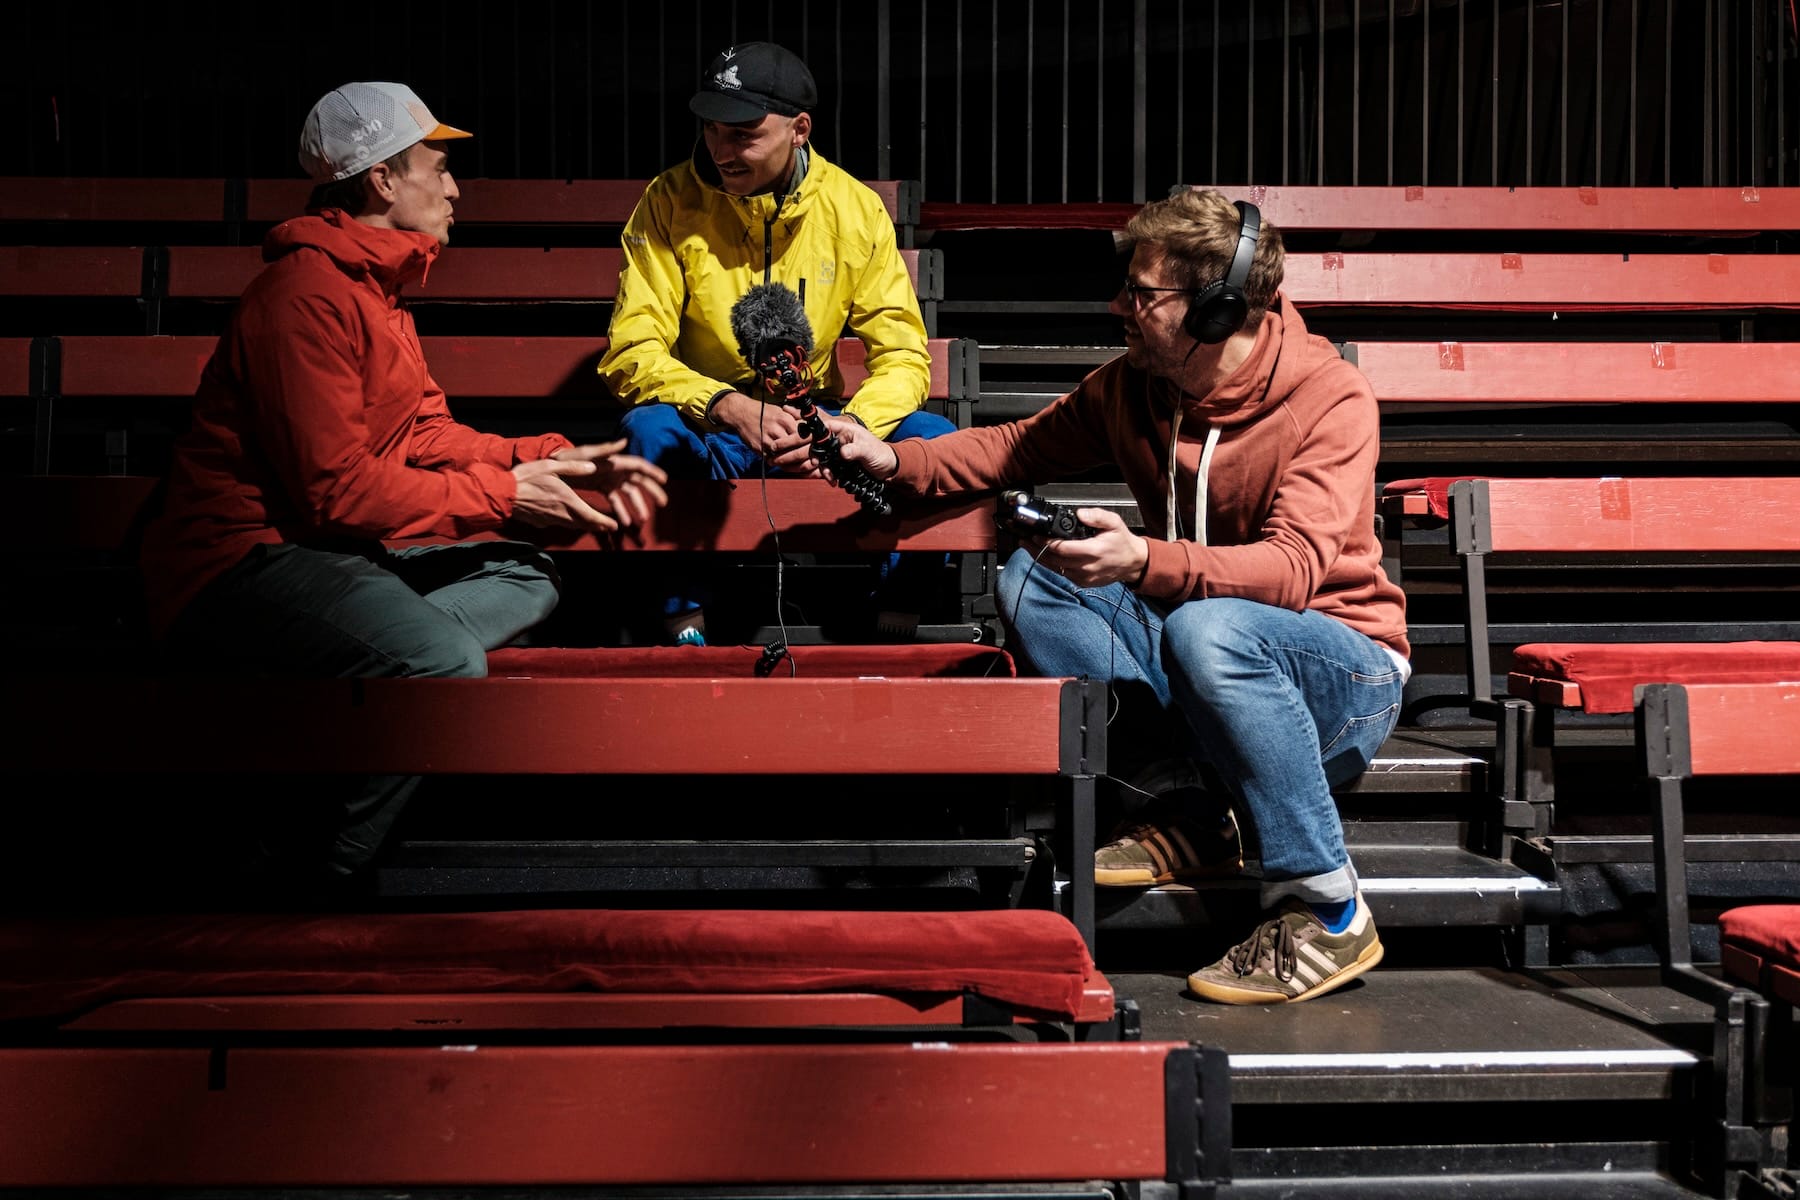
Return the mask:
[[1355,342],[1382,403],[1796,403],[1800,342]]

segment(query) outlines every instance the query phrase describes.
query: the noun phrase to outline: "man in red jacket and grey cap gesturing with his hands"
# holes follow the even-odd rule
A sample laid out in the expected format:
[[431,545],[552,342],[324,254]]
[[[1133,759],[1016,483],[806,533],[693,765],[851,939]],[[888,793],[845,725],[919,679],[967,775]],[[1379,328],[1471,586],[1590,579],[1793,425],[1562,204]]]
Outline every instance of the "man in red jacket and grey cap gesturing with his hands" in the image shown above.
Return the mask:
[[[662,470],[623,441],[452,419],[401,291],[450,241],[448,153],[466,137],[398,83],[347,83],[308,113],[310,212],[263,243],[268,266],[205,365],[146,531],[148,613],[171,666],[481,676],[560,585],[536,547],[466,538],[508,522],[610,531],[666,504]],[[385,545],[419,538],[434,543]],[[416,783],[358,779],[337,811],[266,813],[266,865],[358,874]]]

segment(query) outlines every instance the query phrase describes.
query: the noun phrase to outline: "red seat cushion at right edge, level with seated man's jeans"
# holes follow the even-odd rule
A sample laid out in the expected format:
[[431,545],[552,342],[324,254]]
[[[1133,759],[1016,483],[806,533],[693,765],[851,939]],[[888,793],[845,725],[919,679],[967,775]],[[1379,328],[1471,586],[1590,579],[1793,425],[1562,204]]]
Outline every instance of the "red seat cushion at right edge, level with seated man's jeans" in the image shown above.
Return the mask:
[[1640,684],[1780,684],[1800,680],[1800,642],[1526,642],[1512,673],[1516,694],[1537,680],[1580,687],[1584,712],[1631,712]]

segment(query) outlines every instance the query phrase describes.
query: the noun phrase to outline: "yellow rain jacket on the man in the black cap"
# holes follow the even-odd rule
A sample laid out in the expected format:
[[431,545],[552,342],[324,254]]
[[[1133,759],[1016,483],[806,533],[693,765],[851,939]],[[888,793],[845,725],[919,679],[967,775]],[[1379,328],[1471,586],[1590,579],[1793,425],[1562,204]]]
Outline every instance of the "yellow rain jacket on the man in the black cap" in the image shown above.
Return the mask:
[[731,306],[752,284],[783,282],[812,324],[815,401],[835,407],[844,392],[832,349],[848,333],[868,345],[869,378],[846,416],[887,437],[925,403],[925,320],[887,209],[819,151],[806,153],[787,194],[720,191],[704,151],[650,180],[621,237],[612,344],[599,360],[614,396],[670,403],[702,430],[724,428],[707,407],[725,392],[754,394],[756,383],[731,333]]

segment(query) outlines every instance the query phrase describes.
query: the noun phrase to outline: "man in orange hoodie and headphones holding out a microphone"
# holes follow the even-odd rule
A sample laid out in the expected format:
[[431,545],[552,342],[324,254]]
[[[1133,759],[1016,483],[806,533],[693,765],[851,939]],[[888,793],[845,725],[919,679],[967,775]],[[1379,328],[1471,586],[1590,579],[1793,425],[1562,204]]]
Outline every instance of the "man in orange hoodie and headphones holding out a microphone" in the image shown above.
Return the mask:
[[[1163,752],[1204,763],[1247,819],[1267,912],[1192,991],[1307,1000],[1382,955],[1332,801],[1411,673],[1375,538],[1375,396],[1280,293],[1282,237],[1255,205],[1181,193],[1125,237],[1123,356],[1024,421],[842,452],[920,495],[1123,475],[1148,536],[1084,507],[1091,536],[1026,538],[1001,572],[1006,644],[1040,675],[1150,696]],[[1202,840],[1183,815],[1139,826],[1098,851],[1094,882],[1217,873]]]

